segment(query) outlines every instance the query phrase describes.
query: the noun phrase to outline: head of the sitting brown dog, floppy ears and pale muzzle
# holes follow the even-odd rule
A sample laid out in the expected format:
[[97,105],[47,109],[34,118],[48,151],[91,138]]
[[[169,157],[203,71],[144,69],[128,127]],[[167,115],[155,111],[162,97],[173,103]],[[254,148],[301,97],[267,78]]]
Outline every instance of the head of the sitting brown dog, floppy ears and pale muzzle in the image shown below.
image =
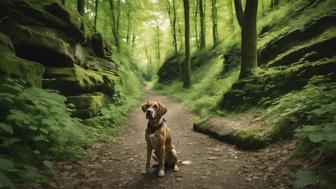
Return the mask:
[[146,119],[158,119],[167,113],[167,108],[160,102],[147,101],[141,108],[146,113]]

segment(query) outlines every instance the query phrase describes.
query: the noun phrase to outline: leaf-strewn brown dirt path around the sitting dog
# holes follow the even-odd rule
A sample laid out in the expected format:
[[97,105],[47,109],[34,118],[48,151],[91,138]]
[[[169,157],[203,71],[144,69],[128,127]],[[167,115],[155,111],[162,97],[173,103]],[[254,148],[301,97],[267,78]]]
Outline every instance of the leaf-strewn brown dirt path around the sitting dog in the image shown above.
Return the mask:
[[[258,151],[241,151],[192,129],[192,112],[169,97],[148,90],[146,98],[168,108],[164,116],[170,127],[178,157],[192,164],[179,172],[144,174],[147,125],[140,106],[115,141],[94,144],[78,162],[59,163],[51,188],[290,188],[295,163],[290,159],[296,142],[281,142]],[[152,160],[152,164],[154,160]]]

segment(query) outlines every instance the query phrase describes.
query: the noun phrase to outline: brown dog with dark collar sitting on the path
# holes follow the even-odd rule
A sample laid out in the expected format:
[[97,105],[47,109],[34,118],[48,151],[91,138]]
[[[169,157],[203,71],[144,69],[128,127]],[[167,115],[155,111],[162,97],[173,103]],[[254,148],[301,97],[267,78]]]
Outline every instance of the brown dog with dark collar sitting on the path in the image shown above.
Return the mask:
[[162,116],[167,113],[167,108],[160,102],[147,101],[147,103],[142,105],[142,111],[146,113],[146,119],[148,119],[145,133],[147,142],[146,173],[150,169],[153,150],[153,159],[159,162],[160,167],[158,176],[164,176],[165,166],[174,166],[174,171],[178,171],[177,154],[172,142],[172,136],[166,121],[162,119]]

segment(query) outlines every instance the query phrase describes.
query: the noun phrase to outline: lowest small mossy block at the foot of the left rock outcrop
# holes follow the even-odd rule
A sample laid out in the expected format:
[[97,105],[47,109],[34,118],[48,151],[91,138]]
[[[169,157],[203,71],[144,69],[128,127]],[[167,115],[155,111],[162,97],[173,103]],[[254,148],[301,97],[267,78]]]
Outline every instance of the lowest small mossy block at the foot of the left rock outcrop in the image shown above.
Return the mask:
[[104,106],[104,94],[82,94],[79,96],[68,96],[68,102],[75,105],[74,117],[81,119],[88,119],[95,116],[101,107]]

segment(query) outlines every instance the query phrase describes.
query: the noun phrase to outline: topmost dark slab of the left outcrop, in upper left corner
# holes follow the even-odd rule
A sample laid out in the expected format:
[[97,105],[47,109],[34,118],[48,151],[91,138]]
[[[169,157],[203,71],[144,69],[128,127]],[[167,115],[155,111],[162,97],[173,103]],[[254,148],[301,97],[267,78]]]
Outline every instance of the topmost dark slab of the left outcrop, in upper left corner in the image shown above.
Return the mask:
[[1,16],[11,16],[18,22],[24,21],[24,25],[43,24],[66,34],[73,42],[85,41],[80,16],[74,15],[55,1],[2,0],[1,4]]

